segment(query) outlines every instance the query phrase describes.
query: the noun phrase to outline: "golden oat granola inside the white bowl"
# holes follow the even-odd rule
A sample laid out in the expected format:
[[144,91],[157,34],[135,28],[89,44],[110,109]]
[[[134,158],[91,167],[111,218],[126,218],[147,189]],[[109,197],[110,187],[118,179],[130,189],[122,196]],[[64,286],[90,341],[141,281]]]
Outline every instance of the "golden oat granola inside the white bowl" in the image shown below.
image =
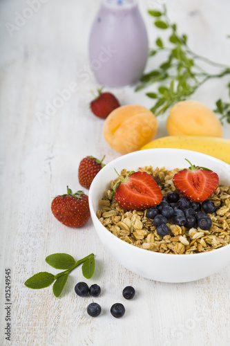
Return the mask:
[[[141,167],[140,172],[146,172],[154,177],[166,196],[175,191],[173,176],[178,168],[166,170],[165,167],[151,165]],[[131,172],[122,170],[124,178]],[[218,185],[209,200],[215,205],[215,212],[209,213],[212,225],[209,230],[202,230],[195,226],[188,228],[178,226],[169,221],[169,234],[161,237],[153,221],[146,216],[147,209],[125,210],[121,208],[113,197],[113,186],[119,178],[111,181],[111,188],[106,190],[99,200],[100,210],[96,215],[102,225],[113,235],[128,244],[159,253],[170,254],[195,254],[212,251],[230,244],[230,186]]]

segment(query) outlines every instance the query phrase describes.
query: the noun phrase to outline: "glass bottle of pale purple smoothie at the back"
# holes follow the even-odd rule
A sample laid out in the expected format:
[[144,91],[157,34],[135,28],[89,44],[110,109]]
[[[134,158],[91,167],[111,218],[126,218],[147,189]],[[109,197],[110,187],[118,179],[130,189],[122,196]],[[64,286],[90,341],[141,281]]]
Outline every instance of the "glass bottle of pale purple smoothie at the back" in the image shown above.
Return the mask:
[[135,84],[148,57],[148,36],[134,0],[104,0],[89,38],[90,67],[100,84]]

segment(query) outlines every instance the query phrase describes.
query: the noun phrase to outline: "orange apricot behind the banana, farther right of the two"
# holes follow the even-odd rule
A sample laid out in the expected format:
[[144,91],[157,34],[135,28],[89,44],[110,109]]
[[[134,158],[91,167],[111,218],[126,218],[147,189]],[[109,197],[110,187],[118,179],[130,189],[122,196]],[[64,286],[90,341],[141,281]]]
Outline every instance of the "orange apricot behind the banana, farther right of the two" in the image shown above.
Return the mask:
[[215,113],[193,100],[178,102],[170,109],[166,128],[171,136],[222,137],[222,125]]

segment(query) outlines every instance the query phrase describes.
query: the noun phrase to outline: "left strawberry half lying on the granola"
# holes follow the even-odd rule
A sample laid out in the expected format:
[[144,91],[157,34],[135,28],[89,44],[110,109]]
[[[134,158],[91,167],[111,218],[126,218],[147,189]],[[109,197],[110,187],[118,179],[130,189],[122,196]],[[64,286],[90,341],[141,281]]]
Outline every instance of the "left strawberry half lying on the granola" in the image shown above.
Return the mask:
[[[146,172],[131,172],[127,179],[120,176],[115,184],[115,201],[126,210],[143,210],[157,206],[163,194],[153,177]],[[117,187],[118,185],[118,187]]]

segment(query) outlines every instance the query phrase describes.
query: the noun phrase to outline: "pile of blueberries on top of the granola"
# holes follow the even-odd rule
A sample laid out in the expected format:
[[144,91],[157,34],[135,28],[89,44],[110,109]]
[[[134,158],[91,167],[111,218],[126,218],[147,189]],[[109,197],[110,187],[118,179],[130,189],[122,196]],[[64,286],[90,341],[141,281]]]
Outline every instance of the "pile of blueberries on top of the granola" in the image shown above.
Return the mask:
[[180,197],[178,192],[169,192],[160,204],[147,210],[146,216],[153,221],[157,234],[164,237],[169,235],[169,227],[166,225],[169,221],[189,229],[197,225],[202,230],[209,230],[212,221],[207,214],[215,210],[214,203],[209,199],[199,203],[190,201],[187,197]]

